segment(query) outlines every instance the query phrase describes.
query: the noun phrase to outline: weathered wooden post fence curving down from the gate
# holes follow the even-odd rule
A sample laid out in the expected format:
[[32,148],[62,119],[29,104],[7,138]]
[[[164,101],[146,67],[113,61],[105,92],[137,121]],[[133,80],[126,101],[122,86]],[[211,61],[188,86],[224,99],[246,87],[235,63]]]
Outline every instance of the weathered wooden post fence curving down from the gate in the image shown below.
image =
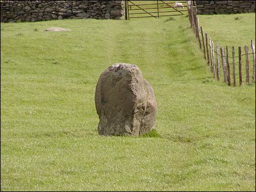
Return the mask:
[[[254,41],[251,40],[251,53],[249,52],[248,45],[244,46],[245,53],[242,54],[241,46],[238,48],[238,56],[235,55],[235,47],[232,46],[232,56],[229,54],[228,46],[226,46],[226,53],[224,47],[219,47],[216,43],[216,50],[214,50],[213,39],[209,37],[207,32],[203,31],[203,26],[199,26],[199,18],[196,16],[196,6],[194,6],[194,1],[187,1],[187,11],[190,21],[190,26],[193,29],[195,36],[199,42],[199,47],[203,51],[204,59],[207,60],[207,65],[210,68],[210,71],[213,74],[213,77],[217,77],[217,81],[221,80],[221,73],[223,74],[223,81],[227,83],[228,86],[231,86],[231,73],[233,73],[233,86],[236,86],[236,64],[238,64],[238,73],[239,76],[239,85],[242,85],[242,56],[245,56],[245,71],[244,75],[246,77],[246,83],[255,82],[255,45]],[[201,36],[200,36],[201,34]],[[214,58],[216,55],[216,61]],[[252,55],[253,59],[250,61],[249,55]],[[221,60],[220,60],[221,58]],[[232,58],[232,61],[230,61]],[[239,58],[235,62],[235,58]],[[222,62],[222,71],[220,67],[220,61]],[[232,67],[231,67],[232,62]],[[252,63],[251,65],[249,63]],[[250,69],[250,66],[252,69]],[[232,71],[231,71],[232,70]],[[250,70],[252,70],[252,77],[250,76]],[[251,77],[251,78],[250,78]],[[251,81],[250,81],[251,79]]]

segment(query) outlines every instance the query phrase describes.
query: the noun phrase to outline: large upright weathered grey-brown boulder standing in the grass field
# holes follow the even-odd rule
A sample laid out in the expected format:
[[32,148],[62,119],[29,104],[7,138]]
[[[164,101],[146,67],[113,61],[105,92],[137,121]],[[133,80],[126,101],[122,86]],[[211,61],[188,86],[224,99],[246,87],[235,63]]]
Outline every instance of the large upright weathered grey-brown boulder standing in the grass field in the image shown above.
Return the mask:
[[154,129],[154,91],[137,65],[116,63],[101,73],[95,92],[100,135],[141,135]]

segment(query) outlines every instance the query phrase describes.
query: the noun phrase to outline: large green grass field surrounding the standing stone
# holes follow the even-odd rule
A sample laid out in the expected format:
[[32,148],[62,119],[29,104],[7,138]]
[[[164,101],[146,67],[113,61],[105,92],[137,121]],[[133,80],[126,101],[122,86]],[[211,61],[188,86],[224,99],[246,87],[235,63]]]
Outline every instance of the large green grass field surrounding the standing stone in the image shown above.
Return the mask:
[[[255,190],[255,84],[212,79],[188,18],[165,19],[1,24],[1,191]],[[154,88],[155,132],[98,135],[117,62]]]

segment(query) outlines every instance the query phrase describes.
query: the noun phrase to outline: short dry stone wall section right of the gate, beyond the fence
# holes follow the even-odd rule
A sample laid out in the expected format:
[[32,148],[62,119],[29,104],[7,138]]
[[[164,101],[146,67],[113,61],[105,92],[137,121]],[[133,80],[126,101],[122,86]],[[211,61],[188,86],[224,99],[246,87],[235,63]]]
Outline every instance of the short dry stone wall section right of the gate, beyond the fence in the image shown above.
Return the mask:
[[197,14],[255,12],[255,1],[196,1]]

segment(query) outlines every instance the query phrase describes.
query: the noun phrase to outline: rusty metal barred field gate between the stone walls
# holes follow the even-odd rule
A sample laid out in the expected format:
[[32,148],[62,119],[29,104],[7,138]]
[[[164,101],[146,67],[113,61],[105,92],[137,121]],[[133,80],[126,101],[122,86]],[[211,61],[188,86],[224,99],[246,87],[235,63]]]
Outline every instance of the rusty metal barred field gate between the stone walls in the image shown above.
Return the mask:
[[187,1],[125,1],[125,19],[187,15]]

